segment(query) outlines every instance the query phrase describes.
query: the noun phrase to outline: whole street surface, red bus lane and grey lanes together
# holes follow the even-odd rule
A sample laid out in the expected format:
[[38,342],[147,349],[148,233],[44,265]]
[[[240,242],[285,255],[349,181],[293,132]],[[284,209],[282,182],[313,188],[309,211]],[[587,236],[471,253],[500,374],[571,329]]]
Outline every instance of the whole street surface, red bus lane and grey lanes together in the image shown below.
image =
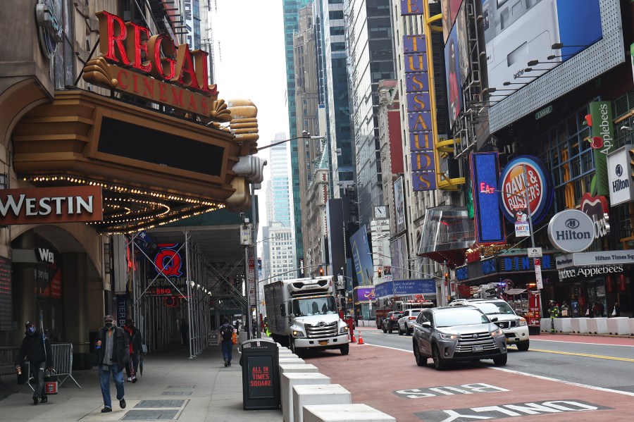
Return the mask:
[[485,360],[435,371],[416,366],[411,336],[373,328],[361,335],[365,344],[348,356],[307,354],[306,363],[346,387],[353,402],[397,421],[614,421],[634,411],[632,338],[542,334],[528,352],[509,347],[506,366]]

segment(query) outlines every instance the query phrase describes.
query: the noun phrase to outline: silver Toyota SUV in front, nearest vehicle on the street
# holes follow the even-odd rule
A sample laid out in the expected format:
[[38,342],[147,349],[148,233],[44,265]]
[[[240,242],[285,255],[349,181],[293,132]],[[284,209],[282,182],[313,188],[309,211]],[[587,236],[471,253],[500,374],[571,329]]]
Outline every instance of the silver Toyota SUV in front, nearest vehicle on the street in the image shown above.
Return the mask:
[[440,371],[455,361],[493,359],[495,366],[506,365],[506,338],[475,306],[442,306],[423,309],[414,324],[412,346],[418,366],[433,359]]

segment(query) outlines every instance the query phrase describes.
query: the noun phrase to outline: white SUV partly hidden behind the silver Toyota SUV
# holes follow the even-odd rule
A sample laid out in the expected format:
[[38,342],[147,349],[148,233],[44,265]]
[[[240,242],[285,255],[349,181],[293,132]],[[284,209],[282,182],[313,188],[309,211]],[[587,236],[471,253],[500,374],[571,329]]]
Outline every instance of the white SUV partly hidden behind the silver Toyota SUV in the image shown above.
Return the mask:
[[506,342],[526,351],[529,346],[528,323],[518,316],[513,308],[502,299],[457,299],[449,306],[471,305],[483,311],[489,318],[497,318],[495,324],[502,328]]

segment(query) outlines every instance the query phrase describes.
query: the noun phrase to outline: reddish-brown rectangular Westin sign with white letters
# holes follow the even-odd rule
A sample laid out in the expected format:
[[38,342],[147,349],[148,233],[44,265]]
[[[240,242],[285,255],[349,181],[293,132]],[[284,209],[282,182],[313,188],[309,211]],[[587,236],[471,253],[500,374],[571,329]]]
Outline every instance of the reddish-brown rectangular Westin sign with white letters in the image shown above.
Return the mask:
[[103,220],[99,186],[0,190],[0,224],[75,223]]

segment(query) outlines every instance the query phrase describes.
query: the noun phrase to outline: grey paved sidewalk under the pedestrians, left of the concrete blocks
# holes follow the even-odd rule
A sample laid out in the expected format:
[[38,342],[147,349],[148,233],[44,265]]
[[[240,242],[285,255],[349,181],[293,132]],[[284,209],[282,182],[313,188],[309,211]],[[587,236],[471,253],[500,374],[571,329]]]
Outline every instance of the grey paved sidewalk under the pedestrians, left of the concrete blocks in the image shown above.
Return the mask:
[[237,347],[232,366],[225,368],[219,346],[207,347],[194,359],[180,345],[143,358],[144,372],[139,382],[125,383],[125,401],[120,409],[116,388],[111,383],[113,411],[101,414],[104,407],[97,366],[76,371],[58,395],[49,395],[46,404],[33,405],[32,391],[24,385],[20,392],[0,401],[3,421],[282,421],[281,410],[245,411],[242,409],[242,367]]

